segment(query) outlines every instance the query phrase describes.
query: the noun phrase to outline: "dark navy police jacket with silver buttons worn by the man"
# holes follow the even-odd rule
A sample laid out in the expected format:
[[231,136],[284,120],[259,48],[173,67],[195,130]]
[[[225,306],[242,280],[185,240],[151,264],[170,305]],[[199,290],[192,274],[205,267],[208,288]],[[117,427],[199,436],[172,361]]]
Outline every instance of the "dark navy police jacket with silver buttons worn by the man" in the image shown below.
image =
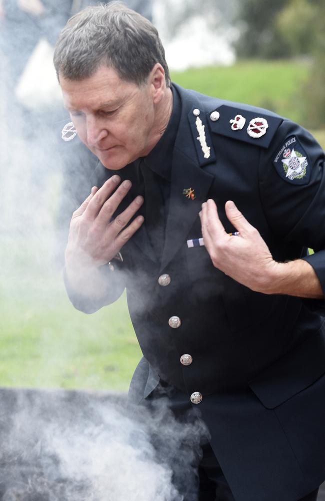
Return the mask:
[[[253,292],[214,268],[204,246],[188,247],[187,240],[202,236],[198,213],[207,198],[215,200],[225,230],[235,231],[224,212],[233,200],[276,261],[303,257],[325,291],[324,153],[306,130],[269,111],[175,88],[181,117],[162,258],[143,225],[121,249],[123,262],[113,260],[114,271],[103,267],[102,302],[68,284],[67,291],[76,308],[91,313],[126,287],[144,357],[132,380],[133,401],[148,396],[159,378],[188,399],[200,392],[197,407],[236,501],[296,501],[325,478],[324,303]],[[233,130],[237,115],[245,125]],[[265,125],[256,118],[268,127],[251,137],[251,120],[257,135],[254,124]],[[80,151],[75,141],[64,147]],[[89,192],[114,171],[86,152],[84,158]],[[121,211],[138,194],[138,173],[130,164],[118,174],[133,182]],[[194,199],[183,194],[187,188]],[[161,274],[170,276],[168,286],[158,284]],[[176,329],[168,324],[172,316],[181,320]],[[189,366],[180,363],[185,353],[193,359]]]

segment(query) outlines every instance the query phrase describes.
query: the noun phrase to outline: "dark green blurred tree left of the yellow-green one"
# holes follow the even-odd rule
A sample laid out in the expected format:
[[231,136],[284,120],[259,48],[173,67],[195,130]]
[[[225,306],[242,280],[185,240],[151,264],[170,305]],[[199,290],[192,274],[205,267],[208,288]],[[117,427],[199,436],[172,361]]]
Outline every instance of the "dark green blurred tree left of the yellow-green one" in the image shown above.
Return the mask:
[[276,19],[287,0],[241,0],[237,24],[241,35],[235,44],[238,57],[282,58],[290,53],[290,45],[282,37]]

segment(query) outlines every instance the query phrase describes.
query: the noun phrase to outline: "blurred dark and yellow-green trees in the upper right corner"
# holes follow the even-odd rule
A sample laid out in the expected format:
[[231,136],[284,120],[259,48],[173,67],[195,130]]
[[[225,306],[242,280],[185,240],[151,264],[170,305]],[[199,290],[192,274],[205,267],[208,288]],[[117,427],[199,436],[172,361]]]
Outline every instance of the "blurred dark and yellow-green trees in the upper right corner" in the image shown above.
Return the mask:
[[325,2],[324,0],[241,0],[235,44],[239,57],[307,57],[312,65],[297,106],[304,124],[325,127]]

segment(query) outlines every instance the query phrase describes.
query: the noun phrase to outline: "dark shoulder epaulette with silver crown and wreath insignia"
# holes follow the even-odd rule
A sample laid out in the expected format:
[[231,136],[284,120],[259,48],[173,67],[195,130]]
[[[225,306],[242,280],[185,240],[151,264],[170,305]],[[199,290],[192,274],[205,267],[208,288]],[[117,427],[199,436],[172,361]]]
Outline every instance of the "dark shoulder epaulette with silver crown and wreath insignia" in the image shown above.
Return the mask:
[[283,119],[259,111],[221,105],[207,114],[207,120],[215,134],[268,148]]

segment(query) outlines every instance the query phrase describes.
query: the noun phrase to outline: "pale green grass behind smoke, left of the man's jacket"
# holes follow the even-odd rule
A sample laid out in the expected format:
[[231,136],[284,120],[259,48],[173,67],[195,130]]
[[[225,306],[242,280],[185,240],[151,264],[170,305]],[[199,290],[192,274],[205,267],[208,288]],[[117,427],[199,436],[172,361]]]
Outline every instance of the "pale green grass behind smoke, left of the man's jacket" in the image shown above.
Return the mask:
[[124,295],[93,315],[63,288],[45,301],[2,297],[0,339],[1,386],[126,391],[141,356]]

